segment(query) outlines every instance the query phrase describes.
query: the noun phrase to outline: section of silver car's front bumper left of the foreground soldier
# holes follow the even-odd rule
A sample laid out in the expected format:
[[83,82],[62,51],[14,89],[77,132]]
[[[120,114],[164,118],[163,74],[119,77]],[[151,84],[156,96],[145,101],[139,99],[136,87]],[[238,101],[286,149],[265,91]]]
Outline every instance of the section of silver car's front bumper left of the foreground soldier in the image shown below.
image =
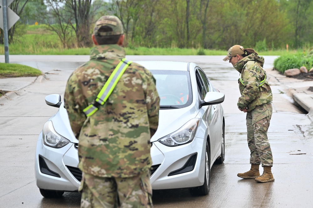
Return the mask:
[[81,180],[78,164],[77,146],[74,143],[55,149],[44,145],[42,133],[39,134],[35,158],[35,177],[38,188],[77,191]]

